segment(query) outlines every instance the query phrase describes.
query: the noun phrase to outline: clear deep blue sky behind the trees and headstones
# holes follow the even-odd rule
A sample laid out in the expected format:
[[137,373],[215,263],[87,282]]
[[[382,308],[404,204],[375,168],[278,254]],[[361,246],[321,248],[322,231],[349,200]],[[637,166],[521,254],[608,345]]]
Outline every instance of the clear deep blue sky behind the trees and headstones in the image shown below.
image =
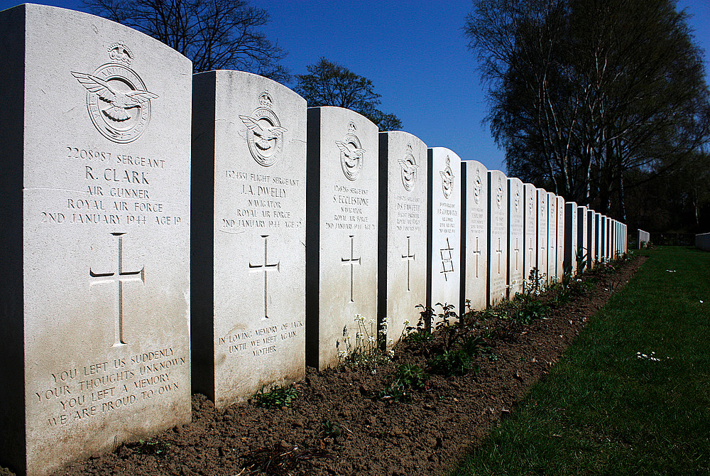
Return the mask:
[[[80,0],[36,3],[81,10]],[[16,5],[0,0],[0,9]],[[285,50],[294,74],[324,56],[373,81],[381,109],[396,114],[403,129],[428,146],[452,149],[461,158],[505,171],[487,125],[484,85],[462,27],[470,0],[269,1],[271,23],[263,31]],[[710,50],[710,2],[682,0],[697,43]],[[706,58],[706,67],[707,67]],[[710,68],[709,68],[710,69]],[[710,79],[708,80],[710,82]]]

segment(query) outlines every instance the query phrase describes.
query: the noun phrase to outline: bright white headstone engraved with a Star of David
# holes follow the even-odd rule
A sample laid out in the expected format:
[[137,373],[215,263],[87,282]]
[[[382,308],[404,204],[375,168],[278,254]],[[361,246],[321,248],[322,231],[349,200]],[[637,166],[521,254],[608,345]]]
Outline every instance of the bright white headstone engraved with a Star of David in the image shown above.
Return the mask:
[[430,148],[428,158],[427,305],[454,305],[456,310],[461,293],[461,158],[444,147]]

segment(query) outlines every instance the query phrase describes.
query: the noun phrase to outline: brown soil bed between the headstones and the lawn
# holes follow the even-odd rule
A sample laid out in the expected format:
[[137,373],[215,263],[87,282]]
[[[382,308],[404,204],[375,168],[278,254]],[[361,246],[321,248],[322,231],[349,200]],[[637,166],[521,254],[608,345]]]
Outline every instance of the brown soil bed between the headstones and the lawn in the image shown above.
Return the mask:
[[[527,326],[496,318],[479,323],[481,328],[498,329],[498,337],[486,342],[491,350],[476,357],[479,372],[432,376],[425,389],[413,391],[410,402],[376,398],[400,364],[425,367],[425,347],[405,343],[392,364],[378,367],[375,374],[347,367],[307,369],[290,408],[246,403],[216,411],[211,401],[194,395],[192,423],[160,433],[149,443],[121,445],[114,453],[74,463],[56,475],[445,474],[513,410],[531,384],[545,377],[564,348],[642,262],[637,258],[619,271],[595,272],[586,292],[555,307],[545,320]],[[548,293],[545,299],[553,297]],[[340,436],[328,436],[326,422],[338,426]],[[244,469],[274,457],[266,473]],[[288,470],[283,463],[296,458],[299,464]]]

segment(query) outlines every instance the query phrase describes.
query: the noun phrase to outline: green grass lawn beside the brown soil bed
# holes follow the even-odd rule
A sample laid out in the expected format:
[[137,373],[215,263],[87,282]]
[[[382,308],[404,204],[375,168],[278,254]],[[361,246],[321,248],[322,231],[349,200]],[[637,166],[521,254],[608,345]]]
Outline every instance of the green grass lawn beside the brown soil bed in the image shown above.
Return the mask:
[[710,475],[710,253],[643,253],[453,475]]

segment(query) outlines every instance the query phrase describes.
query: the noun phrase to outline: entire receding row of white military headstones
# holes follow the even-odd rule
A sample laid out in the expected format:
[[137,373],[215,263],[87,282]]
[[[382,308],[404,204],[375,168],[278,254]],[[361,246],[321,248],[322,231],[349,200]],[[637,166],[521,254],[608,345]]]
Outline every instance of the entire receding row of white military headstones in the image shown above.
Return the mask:
[[624,251],[594,210],[264,77],[192,75],[131,28],[38,5],[0,26],[19,474],[186,423],[192,391],[222,409],[391,345],[416,305],[483,309]]

